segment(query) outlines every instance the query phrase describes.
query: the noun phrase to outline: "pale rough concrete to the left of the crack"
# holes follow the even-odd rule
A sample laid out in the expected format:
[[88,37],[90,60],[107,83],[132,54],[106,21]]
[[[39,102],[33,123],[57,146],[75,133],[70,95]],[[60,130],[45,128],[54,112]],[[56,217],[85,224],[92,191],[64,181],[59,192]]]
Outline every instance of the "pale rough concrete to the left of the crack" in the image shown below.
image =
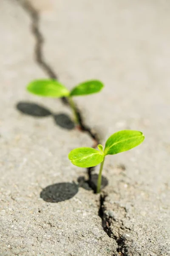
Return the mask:
[[71,116],[59,100],[25,91],[45,77],[33,60],[30,19],[14,1],[1,0],[0,13],[0,255],[111,255],[99,196],[77,186],[85,170],[67,158],[92,140],[56,125],[52,112]]

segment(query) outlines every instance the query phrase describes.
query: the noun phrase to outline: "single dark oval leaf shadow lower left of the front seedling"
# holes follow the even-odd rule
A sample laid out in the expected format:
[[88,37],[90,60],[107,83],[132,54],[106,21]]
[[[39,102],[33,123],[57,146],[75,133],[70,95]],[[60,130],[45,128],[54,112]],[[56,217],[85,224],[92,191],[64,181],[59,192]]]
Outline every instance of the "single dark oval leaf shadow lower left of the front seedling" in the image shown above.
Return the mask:
[[76,183],[55,183],[42,189],[40,198],[46,202],[58,203],[68,200],[77,194],[79,186]]

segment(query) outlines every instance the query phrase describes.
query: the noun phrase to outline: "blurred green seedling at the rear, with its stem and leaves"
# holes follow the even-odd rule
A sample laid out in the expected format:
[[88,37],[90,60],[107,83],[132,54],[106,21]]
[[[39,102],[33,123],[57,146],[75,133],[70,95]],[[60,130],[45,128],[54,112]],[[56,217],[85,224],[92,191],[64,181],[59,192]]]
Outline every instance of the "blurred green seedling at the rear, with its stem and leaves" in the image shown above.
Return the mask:
[[71,91],[69,91],[63,84],[57,80],[41,79],[34,80],[28,84],[27,90],[30,93],[36,94],[43,97],[51,98],[68,98],[68,102],[74,113],[74,119],[79,124],[79,116],[77,114],[75,103],[72,99],[73,96],[82,96],[93,93],[98,93],[104,85],[101,81],[91,80],[78,84]]

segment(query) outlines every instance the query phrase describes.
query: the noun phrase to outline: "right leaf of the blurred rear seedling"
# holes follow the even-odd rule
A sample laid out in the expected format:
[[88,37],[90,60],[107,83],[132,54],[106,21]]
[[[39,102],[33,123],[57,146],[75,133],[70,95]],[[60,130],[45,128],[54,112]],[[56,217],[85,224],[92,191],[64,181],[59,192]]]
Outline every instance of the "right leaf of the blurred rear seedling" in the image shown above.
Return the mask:
[[91,80],[81,84],[78,84],[71,90],[70,96],[88,95],[92,93],[98,93],[104,85],[98,80]]

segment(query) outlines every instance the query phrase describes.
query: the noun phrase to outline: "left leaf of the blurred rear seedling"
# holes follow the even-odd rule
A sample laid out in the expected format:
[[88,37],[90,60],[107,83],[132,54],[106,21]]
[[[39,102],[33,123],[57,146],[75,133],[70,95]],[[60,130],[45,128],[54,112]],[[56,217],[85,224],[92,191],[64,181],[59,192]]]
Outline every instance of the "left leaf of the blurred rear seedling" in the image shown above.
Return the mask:
[[56,80],[48,79],[32,81],[28,84],[27,90],[36,95],[52,98],[60,98],[69,95],[69,91],[64,85]]

